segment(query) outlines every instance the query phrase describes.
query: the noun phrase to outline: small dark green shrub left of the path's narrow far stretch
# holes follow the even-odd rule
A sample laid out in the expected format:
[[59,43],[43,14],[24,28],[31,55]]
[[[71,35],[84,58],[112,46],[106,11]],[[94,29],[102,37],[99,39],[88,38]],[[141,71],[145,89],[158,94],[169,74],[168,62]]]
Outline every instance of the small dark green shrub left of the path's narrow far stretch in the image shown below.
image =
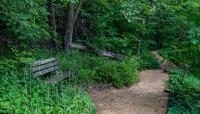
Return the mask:
[[158,69],[160,64],[158,60],[148,51],[142,52],[139,58],[139,69]]

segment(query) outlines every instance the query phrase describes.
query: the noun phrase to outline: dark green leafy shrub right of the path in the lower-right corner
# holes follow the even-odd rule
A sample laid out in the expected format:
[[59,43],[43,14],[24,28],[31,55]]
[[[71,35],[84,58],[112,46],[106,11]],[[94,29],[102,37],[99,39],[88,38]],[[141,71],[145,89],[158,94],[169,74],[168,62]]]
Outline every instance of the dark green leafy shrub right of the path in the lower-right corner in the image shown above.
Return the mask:
[[182,70],[173,70],[168,81],[168,114],[200,113],[200,80]]

